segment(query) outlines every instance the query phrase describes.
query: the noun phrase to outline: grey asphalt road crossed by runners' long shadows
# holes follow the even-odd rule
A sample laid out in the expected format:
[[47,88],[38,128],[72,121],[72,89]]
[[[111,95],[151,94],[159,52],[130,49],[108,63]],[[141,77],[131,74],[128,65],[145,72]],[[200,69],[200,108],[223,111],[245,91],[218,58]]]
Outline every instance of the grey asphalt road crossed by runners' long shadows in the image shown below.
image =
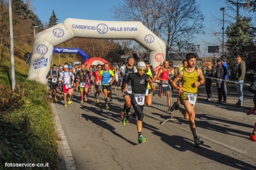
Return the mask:
[[[256,142],[248,138],[256,116],[246,115],[253,106],[253,95],[244,92],[243,107],[234,107],[234,89],[228,92],[227,104],[216,103],[215,88],[212,90],[211,102],[204,100],[204,87],[198,92],[196,131],[204,140],[201,146],[194,146],[188,121],[179,111],[173,112],[173,120],[160,125],[170,115],[152,107],[145,107],[142,130],[149,142],[138,144],[136,121],[122,125],[124,99],[120,90],[112,91],[109,110],[105,109],[103,95],[97,104],[91,93],[84,105],[79,104],[80,95],[75,95],[74,104],[68,107],[64,107],[64,101],[52,104],[62,138],[62,169],[256,169]],[[176,100],[176,93],[172,100]]]

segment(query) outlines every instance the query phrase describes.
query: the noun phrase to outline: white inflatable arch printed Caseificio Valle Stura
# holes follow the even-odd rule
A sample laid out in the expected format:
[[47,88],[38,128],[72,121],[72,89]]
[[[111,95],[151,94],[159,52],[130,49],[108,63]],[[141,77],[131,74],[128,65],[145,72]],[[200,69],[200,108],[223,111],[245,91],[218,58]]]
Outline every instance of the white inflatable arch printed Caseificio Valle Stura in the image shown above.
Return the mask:
[[134,40],[150,51],[151,65],[158,72],[165,59],[166,45],[141,22],[97,21],[67,18],[47,30],[36,34],[28,79],[46,84],[46,74],[55,46],[72,38]]

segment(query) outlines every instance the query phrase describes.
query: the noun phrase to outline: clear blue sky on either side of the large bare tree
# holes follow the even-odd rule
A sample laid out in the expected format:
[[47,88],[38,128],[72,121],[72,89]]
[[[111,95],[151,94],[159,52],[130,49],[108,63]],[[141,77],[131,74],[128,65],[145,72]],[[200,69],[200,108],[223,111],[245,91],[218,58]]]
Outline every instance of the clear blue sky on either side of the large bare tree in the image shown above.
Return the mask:
[[[26,0],[24,0],[26,2]],[[73,2],[73,3],[72,3]],[[102,20],[116,21],[112,17],[110,9],[118,6],[122,0],[34,0],[34,13],[38,15],[42,22],[48,22],[54,10],[58,23],[63,22],[66,18],[77,18],[85,20]],[[200,57],[211,56],[212,53],[207,52],[208,45],[222,45],[222,17],[223,12],[220,8],[225,7],[224,0],[196,0],[200,6],[200,10],[204,15],[204,31],[205,35],[197,36],[197,44],[200,45]],[[212,18],[216,16],[218,21]],[[225,20],[225,19],[224,19]],[[224,24],[226,28],[228,24]],[[220,37],[216,38],[212,30],[220,33]]]

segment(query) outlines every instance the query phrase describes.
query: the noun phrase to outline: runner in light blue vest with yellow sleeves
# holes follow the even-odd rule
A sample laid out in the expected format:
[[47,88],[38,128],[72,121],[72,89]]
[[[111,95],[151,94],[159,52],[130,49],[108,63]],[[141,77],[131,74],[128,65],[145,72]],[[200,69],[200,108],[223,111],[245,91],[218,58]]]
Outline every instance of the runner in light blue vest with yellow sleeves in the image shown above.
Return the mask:
[[108,106],[108,97],[110,97],[110,100],[112,99],[111,97],[111,85],[115,81],[115,75],[112,70],[109,69],[108,63],[104,64],[104,70],[100,71],[97,77],[97,83],[100,83],[100,76],[102,75],[102,90],[105,94],[104,100],[106,103],[106,109],[109,109]]

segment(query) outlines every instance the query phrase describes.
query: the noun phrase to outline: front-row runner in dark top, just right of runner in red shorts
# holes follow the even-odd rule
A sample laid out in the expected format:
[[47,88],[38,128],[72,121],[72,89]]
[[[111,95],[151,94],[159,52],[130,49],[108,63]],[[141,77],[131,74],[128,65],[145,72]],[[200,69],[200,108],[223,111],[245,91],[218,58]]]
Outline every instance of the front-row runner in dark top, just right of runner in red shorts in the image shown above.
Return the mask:
[[85,65],[81,64],[81,69],[76,72],[78,76],[78,81],[80,81],[80,93],[81,102],[80,105],[87,101],[88,89],[89,89],[89,71],[85,69]]

